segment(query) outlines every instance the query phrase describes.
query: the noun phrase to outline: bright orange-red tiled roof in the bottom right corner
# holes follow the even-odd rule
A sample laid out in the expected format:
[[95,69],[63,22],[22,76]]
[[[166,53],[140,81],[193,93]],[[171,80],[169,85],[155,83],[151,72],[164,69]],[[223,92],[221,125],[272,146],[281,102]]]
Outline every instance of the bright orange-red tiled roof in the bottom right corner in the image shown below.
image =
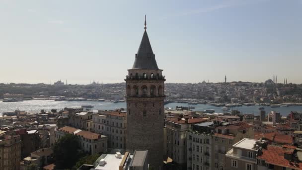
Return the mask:
[[262,149],[262,155],[258,156],[258,159],[265,160],[266,163],[277,165],[280,167],[287,167],[295,170],[302,169],[302,163],[299,163],[299,167],[295,167],[294,163],[289,164],[289,161],[284,158],[284,153],[292,152],[293,149],[283,149],[273,145],[268,145],[267,150]]

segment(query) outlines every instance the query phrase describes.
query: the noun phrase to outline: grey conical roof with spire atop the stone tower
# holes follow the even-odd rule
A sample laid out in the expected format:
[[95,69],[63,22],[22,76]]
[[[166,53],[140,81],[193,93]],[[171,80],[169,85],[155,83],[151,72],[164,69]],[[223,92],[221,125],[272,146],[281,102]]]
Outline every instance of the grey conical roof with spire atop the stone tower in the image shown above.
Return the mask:
[[153,54],[146,29],[147,27],[145,20],[145,32],[138,53],[135,55],[135,61],[132,69],[158,70],[155,55]]

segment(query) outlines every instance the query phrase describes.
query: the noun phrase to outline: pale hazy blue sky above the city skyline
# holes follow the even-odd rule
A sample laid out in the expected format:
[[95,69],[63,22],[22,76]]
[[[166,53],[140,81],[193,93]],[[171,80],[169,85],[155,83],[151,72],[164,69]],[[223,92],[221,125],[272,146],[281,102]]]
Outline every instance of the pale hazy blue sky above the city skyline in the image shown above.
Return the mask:
[[302,0],[0,0],[0,83],[124,82],[145,14],[167,83],[302,84]]

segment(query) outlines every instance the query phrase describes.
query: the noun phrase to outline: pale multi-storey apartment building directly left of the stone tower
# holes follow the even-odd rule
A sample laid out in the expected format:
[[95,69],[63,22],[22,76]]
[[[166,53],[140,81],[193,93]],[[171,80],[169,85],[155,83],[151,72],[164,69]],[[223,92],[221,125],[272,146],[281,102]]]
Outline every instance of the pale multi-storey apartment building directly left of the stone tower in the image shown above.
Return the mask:
[[108,136],[108,148],[126,149],[126,115],[126,112],[121,111],[99,111],[92,115],[92,130]]

